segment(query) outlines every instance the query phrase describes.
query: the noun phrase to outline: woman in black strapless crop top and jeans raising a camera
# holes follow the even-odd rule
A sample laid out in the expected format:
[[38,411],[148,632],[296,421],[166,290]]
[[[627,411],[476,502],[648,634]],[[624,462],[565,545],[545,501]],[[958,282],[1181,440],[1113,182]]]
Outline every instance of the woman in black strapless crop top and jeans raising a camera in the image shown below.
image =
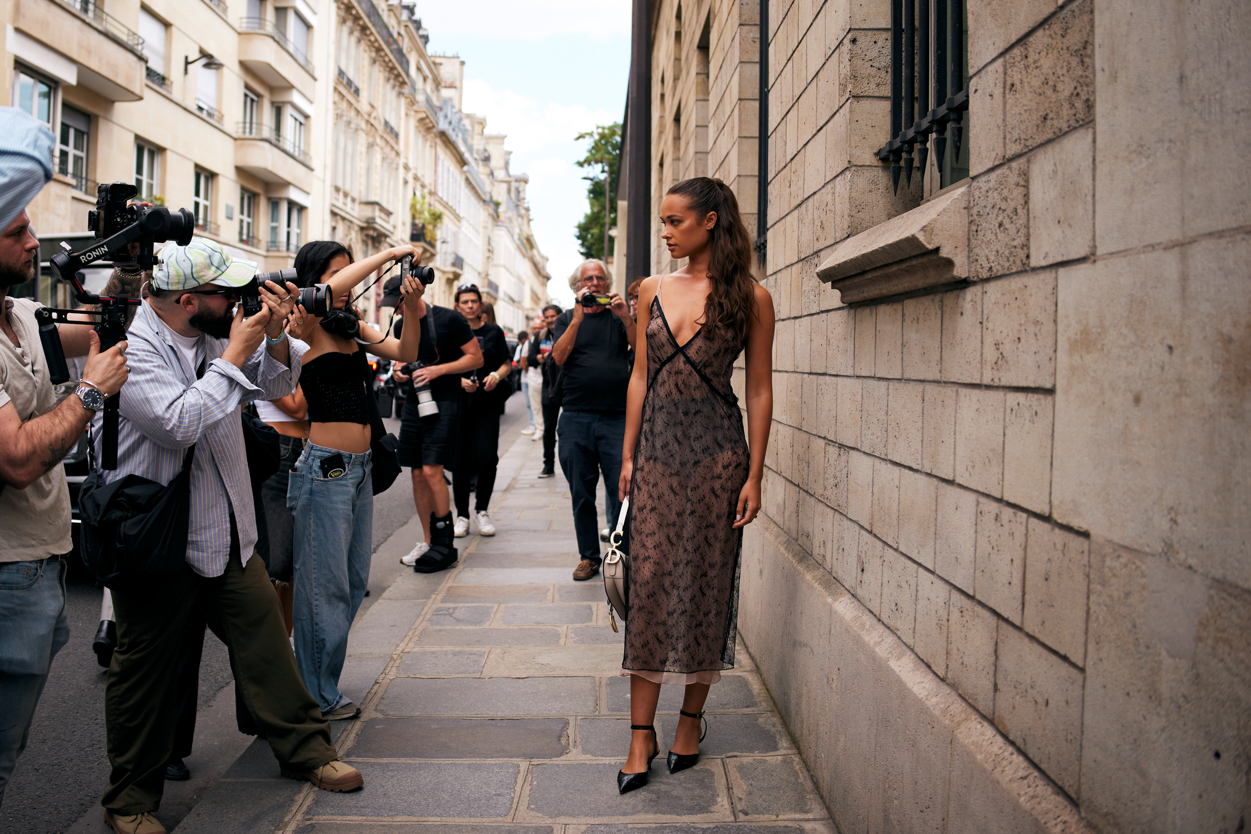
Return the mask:
[[[373,550],[372,390],[363,351],[399,363],[417,360],[425,288],[405,280],[403,304],[410,326],[399,339],[362,321],[348,301],[358,284],[404,255],[417,251],[397,246],[353,263],[352,253],[330,240],[304,244],[295,255],[295,283],[329,284],[334,299],[334,310],[324,319],[299,306],[288,324],[288,333],[309,345],[300,360],[309,441],[286,489],[294,516],[295,663],[328,719],[360,714],[339,691],[339,674],[348,629],[365,596]],[[344,324],[357,328],[355,338],[342,335]]]

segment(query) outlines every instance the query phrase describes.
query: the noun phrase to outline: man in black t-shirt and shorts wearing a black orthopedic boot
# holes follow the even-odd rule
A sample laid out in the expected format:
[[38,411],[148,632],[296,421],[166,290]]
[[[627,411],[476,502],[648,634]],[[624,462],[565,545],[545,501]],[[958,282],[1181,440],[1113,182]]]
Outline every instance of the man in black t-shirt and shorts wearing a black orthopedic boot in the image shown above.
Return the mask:
[[[390,299],[384,295],[383,304]],[[417,361],[397,369],[393,376],[398,383],[413,383],[400,416],[398,458],[400,466],[413,469],[413,501],[425,529],[425,540],[418,541],[400,561],[417,573],[429,574],[457,561],[452,543],[452,496],[443,469],[455,464],[459,445],[458,425],[464,399],[460,374],[482,368],[483,359],[469,323],[455,310],[423,303],[420,324],[422,346]],[[397,338],[403,326],[403,319],[395,323]],[[423,418],[418,411],[417,389],[427,384],[439,411]]]

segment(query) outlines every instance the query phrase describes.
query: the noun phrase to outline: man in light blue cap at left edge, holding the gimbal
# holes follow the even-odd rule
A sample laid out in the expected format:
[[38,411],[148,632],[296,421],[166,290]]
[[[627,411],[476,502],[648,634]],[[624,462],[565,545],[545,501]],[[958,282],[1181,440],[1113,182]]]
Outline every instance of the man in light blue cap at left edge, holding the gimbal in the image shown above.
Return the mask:
[[100,353],[90,325],[64,325],[65,354],[88,360],[78,390],[58,404],[35,321],[41,305],[8,298],[35,274],[39,241],[25,205],[51,179],[51,153],[48,128],[0,108],[0,801],[53,658],[69,639],[63,554],[73,544],[61,458],[126,381],[125,341]]

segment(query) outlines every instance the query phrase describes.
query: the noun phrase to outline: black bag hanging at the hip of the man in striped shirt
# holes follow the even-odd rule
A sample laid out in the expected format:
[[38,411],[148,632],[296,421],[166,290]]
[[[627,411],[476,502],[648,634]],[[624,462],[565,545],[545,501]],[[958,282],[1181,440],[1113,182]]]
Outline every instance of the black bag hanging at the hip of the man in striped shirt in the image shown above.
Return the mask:
[[115,583],[181,573],[191,518],[191,461],[169,484],[130,474],[103,484],[99,469],[83,481],[83,563],[98,580]]

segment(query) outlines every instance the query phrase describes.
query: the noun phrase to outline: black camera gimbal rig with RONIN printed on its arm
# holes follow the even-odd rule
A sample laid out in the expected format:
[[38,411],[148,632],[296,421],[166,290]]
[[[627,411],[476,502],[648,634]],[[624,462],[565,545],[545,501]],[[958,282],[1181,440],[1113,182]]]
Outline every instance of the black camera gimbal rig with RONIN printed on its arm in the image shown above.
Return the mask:
[[[139,306],[141,299],[110,298],[88,293],[83,286],[80,269],[100,260],[110,260],[115,266],[153,268],[153,244],[175,240],[180,246],[191,243],[195,218],[186,209],[170,211],[165,208],[129,205],[138,189],[129,183],[101,183],[95,199],[95,211],[88,214],[88,229],[95,233],[95,243],[79,253],[65,251],[51,258],[53,276],[74,286],[74,298],[80,304],[96,305],[94,310],[58,310],[39,308],[39,339],[44,345],[48,374],[54,385],[70,379],[61,348],[58,324],[85,324],[81,316],[98,319],[95,331],[100,336],[100,350],[108,350],[126,338],[126,308]],[[130,253],[130,245],[139,244],[139,251]],[[78,320],[70,315],[79,316]],[[104,443],[100,450],[103,469],[118,468],[118,394],[104,401]]]

